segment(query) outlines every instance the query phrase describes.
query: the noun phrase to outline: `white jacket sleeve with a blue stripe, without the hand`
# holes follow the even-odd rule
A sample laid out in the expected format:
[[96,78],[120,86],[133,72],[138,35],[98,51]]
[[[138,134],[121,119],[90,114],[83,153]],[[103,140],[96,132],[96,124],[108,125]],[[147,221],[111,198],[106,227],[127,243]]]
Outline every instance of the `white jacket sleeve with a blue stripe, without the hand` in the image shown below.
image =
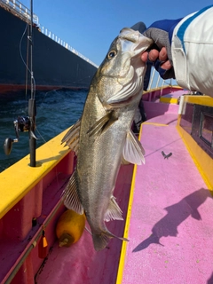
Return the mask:
[[177,24],[171,54],[178,85],[213,97],[213,5]]

